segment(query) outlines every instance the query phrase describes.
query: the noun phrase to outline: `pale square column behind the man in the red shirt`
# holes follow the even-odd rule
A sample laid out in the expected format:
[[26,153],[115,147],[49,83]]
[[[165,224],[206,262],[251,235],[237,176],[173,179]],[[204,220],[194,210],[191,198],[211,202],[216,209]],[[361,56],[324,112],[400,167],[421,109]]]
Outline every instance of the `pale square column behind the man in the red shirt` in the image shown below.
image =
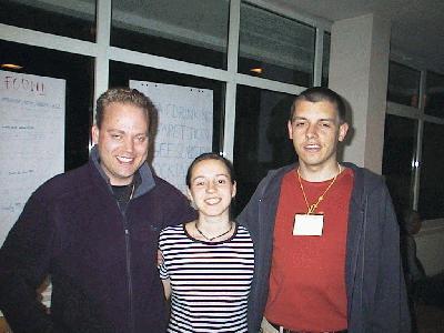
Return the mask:
[[387,19],[375,14],[332,26],[329,85],[350,104],[352,125],[340,159],[377,173],[384,145],[390,28]]

